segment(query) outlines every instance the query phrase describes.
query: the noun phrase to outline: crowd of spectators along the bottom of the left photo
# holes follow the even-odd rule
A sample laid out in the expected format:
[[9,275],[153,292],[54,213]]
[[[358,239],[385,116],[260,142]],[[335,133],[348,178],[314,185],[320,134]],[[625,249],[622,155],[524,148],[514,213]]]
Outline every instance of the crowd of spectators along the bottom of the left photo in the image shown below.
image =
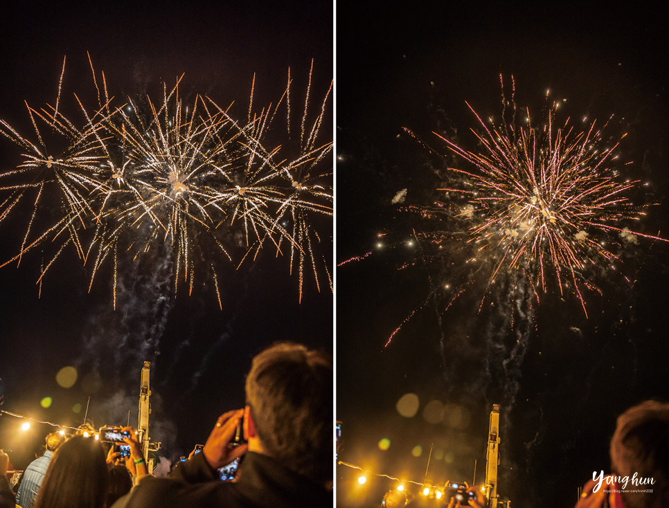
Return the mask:
[[[83,429],[54,433],[13,489],[0,451],[0,508],[331,507],[333,388],[327,356],[276,344],[253,359],[247,405],[221,415],[202,453],[167,477],[148,473],[130,427],[124,459]],[[238,471],[222,480],[233,462]]]

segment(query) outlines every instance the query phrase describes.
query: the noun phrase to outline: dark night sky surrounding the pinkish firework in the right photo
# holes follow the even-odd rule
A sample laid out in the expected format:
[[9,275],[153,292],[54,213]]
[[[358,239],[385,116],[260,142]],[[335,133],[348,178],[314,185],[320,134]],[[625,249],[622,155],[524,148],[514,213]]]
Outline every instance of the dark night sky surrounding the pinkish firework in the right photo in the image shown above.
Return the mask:
[[[631,226],[666,238],[668,46],[650,8],[488,5],[337,2],[337,263],[373,252],[337,271],[339,458],[422,482],[432,448],[427,480],[471,483],[476,460],[480,484],[488,417],[501,403],[502,498],[569,507],[593,471],[609,469],[616,416],[669,399],[668,244],[640,239],[619,271],[589,274],[602,293],[585,293],[588,318],[572,292],[548,291],[524,308],[533,320],[516,313],[511,326],[510,302],[498,302],[497,290],[490,300],[499,305],[478,312],[481,278],[444,311],[443,291],[428,297],[467,270],[466,257],[456,249],[450,265],[427,263],[407,245],[412,230],[436,226],[391,199],[407,189],[404,206],[429,206],[445,176],[402,128],[442,154],[432,131],[476,149],[465,101],[483,118],[499,117],[500,73],[507,87],[513,76],[515,102],[537,118],[547,89],[551,100],[567,99],[562,122],[587,116],[603,125],[614,115],[608,135],[627,132],[619,151],[634,162],[624,171],[641,180],[634,203],[659,203]],[[526,348],[514,350],[517,341]],[[395,409],[407,393],[420,401],[413,418]],[[431,401],[446,405],[438,424],[423,416],[438,408]],[[338,506],[377,506],[396,487],[381,477],[361,486],[358,473],[338,466]]]

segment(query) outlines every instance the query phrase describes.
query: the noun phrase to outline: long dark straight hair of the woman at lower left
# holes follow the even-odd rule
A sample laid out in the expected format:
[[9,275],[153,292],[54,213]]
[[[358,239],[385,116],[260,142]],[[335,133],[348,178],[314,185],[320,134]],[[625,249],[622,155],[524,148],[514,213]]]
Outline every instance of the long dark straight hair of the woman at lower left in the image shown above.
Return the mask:
[[74,436],[53,455],[34,508],[104,508],[108,486],[102,444]]

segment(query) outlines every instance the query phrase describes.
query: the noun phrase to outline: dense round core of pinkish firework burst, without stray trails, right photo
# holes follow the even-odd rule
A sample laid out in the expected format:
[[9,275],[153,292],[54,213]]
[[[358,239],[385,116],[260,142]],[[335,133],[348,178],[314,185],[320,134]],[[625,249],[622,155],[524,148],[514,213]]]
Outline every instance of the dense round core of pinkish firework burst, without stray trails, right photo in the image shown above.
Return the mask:
[[[492,118],[486,123],[467,104],[482,127],[480,133],[472,129],[480,146],[476,151],[437,134],[465,168],[447,168],[450,185],[438,189],[445,194],[433,206],[409,207],[438,225],[415,236],[428,256],[449,250],[445,247],[454,240],[465,242],[473,253],[467,264],[477,271],[491,266],[488,289],[500,278],[515,280],[507,284],[515,289],[524,280],[523,291],[538,302],[539,292],[554,285],[560,294],[572,291],[587,315],[582,289],[598,291],[589,277],[594,266],[615,269],[618,248],[635,237],[663,240],[630,229],[644,212],[628,197],[639,182],[620,175],[618,145],[625,135],[605,138],[606,123],[580,130],[567,118],[558,125],[560,102],[548,108],[542,125],[533,126],[526,110],[518,127],[515,102],[503,98],[503,104],[512,111],[503,110],[498,125]],[[452,232],[454,224],[461,230]],[[449,291],[450,302],[462,292],[458,285],[463,284]]]

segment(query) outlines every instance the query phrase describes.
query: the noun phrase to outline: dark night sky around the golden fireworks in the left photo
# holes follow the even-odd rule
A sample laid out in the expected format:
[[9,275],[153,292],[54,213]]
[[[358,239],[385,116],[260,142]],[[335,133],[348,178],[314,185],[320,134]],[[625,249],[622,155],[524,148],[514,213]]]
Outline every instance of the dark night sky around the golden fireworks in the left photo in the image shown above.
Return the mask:
[[[249,108],[254,73],[253,104],[259,110],[280,99],[288,68],[294,78],[292,109],[301,118],[314,59],[310,113],[317,114],[333,77],[332,3],[220,4],[107,2],[73,9],[53,2],[12,3],[3,8],[0,21],[0,118],[33,139],[24,101],[36,109],[53,105],[66,57],[60,104],[66,115],[80,121],[73,93],[87,107],[96,103],[87,52],[98,80],[104,71],[109,93],[118,100],[148,92],[159,102],[163,82],[171,88],[185,73],[179,87],[184,100],[200,93],[220,105],[234,102],[231,115],[241,120]],[[332,95],[328,107],[323,143],[332,140]],[[20,154],[10,140],[0,140],[3,170],[20,163]],[[30,213],[30,206],[19,206],[1,221],[2,262],[16,255]],[[321,252],[330,257],[330,220],[314,224]],[[298,278],[289,275],[287,256],[276,257],[275,249],[268,248],[235,271],[239,254],[235,252],[234,264],[220,264],[222,310],[211,277],[196,280],[193,296],[179,291],[175,298],[170,269],[161,270],[161,260],[152,257],[119,263],[116,311],[109,264],[89,293],[90,266],[81,266],[75,251],[66,250],[49,269],[41,298],[35,285],[42,262],[39,251],[27,255],[19,267],[4,266],[2,408],[77,426],[90,396],[89,418],[96,426],[123,424],[128,411],[136,426],[140,370],[150,360],[151,436],[163,442],[160,454],[170,460],[187,455],[195,443],[204,443],[218,415],[243,405],[244,374],[262,347],[293,340],[332,352],[333,299],[327,283],[319,293],[305,276],[300,304]],[[55,376],[68,365],[77,369],[78,381],[72,388],[60,388]],[[53,399],[51,407],[40,406],[44,397]],[[82,406],[80,412],[73,412],[76,404]],[[35,424],[24,435],[17,432],[19,424],[18,419],[0,417],[0,446],[12,450],[15,466],[25,467],[51,428]]]

